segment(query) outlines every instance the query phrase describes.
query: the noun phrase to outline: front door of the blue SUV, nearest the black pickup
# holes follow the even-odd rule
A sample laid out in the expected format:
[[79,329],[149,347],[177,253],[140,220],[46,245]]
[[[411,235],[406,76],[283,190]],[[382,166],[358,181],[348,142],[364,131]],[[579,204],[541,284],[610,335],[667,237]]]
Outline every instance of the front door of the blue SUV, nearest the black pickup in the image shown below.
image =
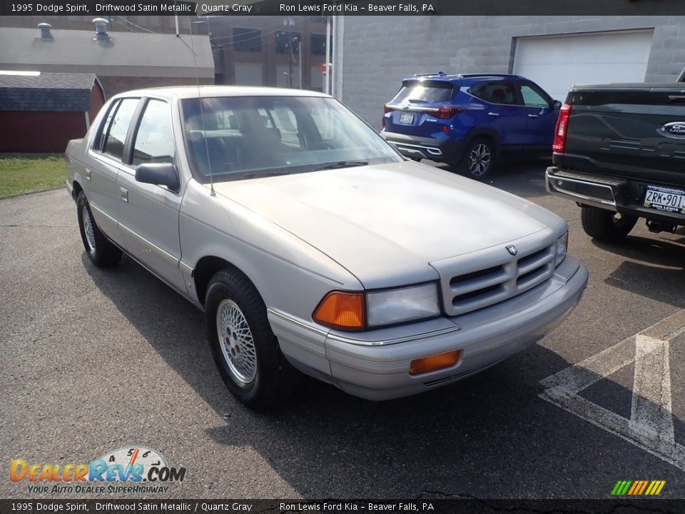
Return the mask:
[[519,91],[527,118],[526,146],[548,147],[551,153],[559,111],[537,84],[523,82],[519,84]]

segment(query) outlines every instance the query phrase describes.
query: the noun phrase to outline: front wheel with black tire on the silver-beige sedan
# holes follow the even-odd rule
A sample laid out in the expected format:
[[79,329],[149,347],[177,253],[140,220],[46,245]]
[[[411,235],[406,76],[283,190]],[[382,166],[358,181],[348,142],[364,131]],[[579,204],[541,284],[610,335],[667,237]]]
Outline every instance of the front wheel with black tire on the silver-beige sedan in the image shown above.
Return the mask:
[[205,318],[214,362],[235,398],[266,410],[293,392],[298,372],[281,353],[264,302],[248,278],[238,271],[215,273],[205,296]]

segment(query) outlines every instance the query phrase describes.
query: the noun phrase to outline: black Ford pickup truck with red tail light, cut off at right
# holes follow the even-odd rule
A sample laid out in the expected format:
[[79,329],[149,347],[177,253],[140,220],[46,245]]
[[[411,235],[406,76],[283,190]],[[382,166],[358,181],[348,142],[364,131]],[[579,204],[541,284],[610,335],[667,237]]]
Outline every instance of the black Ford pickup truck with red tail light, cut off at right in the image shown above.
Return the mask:
[[574,86],[553,149],[547,191],[578,203],[589,236],[685,226],[685,84]]

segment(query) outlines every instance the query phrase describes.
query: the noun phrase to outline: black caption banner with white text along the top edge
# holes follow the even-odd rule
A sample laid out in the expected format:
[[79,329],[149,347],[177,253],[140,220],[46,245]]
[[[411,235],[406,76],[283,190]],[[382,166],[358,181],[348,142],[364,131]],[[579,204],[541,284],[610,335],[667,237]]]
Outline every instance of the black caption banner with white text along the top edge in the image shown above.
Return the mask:
[[683,0],[3,0],[0,15],[685,15]]

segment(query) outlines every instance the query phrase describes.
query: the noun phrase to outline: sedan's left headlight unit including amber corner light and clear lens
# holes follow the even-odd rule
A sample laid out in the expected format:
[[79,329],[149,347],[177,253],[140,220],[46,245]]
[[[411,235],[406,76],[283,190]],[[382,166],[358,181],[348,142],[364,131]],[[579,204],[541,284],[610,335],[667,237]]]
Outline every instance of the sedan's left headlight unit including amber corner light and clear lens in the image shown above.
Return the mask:
[[334,328],[362,330],[439,315],[437,283],[430,282],[367,293],[331,291],[312,317]]

